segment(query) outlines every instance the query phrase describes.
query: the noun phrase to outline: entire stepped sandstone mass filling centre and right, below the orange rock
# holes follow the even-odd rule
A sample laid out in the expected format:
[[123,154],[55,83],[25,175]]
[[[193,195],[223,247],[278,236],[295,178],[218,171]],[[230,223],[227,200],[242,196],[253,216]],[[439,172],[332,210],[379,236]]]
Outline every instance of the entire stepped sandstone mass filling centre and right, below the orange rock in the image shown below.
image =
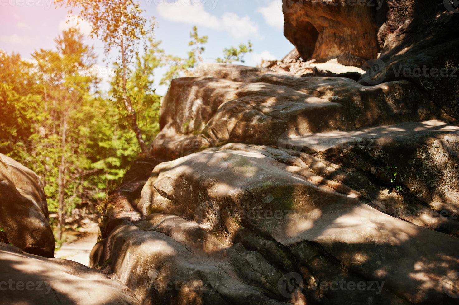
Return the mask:
[[413,83],[213,64],[162,103],[91,254],[140,302],[455,304],[459,128]]

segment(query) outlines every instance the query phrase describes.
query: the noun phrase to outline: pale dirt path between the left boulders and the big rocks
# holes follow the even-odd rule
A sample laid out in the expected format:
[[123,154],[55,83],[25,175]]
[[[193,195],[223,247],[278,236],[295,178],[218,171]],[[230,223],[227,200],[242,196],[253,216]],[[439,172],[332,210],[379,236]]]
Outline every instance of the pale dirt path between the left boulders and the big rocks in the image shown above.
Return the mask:
[[89,256],[97,242],[99,226],[91,220],[84,220],[83,222],[77,239],[73,242],[62,244],[62,247],[54,255],[56,258],[76,261],[84,266],[89,266]]

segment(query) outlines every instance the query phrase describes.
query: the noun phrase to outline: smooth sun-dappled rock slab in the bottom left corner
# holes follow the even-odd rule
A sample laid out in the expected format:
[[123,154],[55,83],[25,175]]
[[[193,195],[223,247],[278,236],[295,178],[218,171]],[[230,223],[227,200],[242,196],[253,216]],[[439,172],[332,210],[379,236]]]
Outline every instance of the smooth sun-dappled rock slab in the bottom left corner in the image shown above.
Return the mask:
[[140,304],[129,288],[97,270],[1,243],[0,270],[2,304]]

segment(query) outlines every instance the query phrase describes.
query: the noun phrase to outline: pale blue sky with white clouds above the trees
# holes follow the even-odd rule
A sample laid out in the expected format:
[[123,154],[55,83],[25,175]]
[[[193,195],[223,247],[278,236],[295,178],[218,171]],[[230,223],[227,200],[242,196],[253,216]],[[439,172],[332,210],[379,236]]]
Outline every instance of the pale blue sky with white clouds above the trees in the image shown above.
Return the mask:
[[[283,34],[281,0],[141,0],[147,16],[157,19],[156,38],[168,54],[186,56],[189,33],[198,26],[200,36],[209,37],[204,58],[212,61],[231,45],[253,43],[253,54],[246,56],[247,65],[261,59],[280,59],[293,45]],[[67,9],[56,9],[52,0],[0,0],[0,48],[30,58],[34,50],[54,48],[53,39],[68,27]],[[70,22],[72,24],[72,21]],[[89,33],[90,26],[80,22],[78,27]],[[98,67],[108,69],[102,62],[102,44],[88,39],[99,55]],[[158,89],[164,93],[165,88]]]

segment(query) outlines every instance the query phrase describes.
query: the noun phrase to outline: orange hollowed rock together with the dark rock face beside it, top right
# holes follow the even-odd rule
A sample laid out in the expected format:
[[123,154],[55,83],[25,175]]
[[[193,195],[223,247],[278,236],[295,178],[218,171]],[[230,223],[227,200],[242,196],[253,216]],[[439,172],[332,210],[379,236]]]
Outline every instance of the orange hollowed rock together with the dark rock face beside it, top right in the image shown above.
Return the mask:
[[366,85],[408,79],[459,119],[454,1],[283,0],[283,10],[285,37],[303,61],[337,57],[367,70]]

